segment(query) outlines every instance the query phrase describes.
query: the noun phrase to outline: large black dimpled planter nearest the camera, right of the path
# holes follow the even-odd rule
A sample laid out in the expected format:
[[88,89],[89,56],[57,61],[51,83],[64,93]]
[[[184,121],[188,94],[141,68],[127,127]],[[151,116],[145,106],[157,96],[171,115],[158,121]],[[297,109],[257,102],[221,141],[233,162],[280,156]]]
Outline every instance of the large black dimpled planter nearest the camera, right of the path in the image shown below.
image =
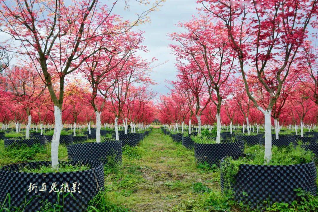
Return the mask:
[[[228,183],[221,173],[221,188],[224,191]],[[315,163],[285,166],[247,165],[239,166],[231,189],[234,200],[243,202],[252,208],[262,206],[264,201],[290,203],[297,199],[294,189],[316,195]]]

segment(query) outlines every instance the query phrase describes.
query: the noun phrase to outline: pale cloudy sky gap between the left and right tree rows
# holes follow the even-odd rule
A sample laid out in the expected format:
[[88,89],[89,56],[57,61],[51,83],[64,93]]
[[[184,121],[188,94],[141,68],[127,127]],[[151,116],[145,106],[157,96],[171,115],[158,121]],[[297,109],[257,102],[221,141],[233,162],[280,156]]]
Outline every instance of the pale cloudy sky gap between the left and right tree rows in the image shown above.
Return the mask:
[[[105,0],[104,0],[105,1]],[[154,0],[149,0],[154,2]],[[106,2],[112,2],[106,0]],[[115,6],[114,13],[121,15],[124,19],[135,20],[136,13],[141,13],[145,7],[141,7],[135,0],[130,0],[129,10],[124,9],[124,0],[119,0],[118,5]],[[158,94],[166,94],[169,89],[166,88],[166,79],[174,80],[176,76],[175,56],[171,54],[168,45],[172,43],[169,40],[168,34],[179,31],[176,24],[178,22],[184,22],[191,19],[192,15],[197,13],[196,8],[199,7],[195,0],[167,0],[159,8],[159,11],[150,13],[151,23],[143,24],[136,27],[141,31],[145,31],[144,45],[148,47],[149,52],[142,54],[142,57],[151,59],[156,57],[157,64],[160,65],[151,73],[151,79],[153,79],[157,85],[153,85],[153,91]],[[159,96],[159,95],[158,95]]]

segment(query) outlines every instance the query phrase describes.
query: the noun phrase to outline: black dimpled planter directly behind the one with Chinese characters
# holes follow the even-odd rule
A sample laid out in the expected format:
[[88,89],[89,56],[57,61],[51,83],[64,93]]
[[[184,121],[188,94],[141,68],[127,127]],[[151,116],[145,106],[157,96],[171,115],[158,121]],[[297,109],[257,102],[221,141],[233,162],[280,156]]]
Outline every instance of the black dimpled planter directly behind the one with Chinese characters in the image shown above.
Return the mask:
[[89,142],[67,146],[68,158],[72,161],[101,161],[107,163],[109,157],[121,163],[121,141]]

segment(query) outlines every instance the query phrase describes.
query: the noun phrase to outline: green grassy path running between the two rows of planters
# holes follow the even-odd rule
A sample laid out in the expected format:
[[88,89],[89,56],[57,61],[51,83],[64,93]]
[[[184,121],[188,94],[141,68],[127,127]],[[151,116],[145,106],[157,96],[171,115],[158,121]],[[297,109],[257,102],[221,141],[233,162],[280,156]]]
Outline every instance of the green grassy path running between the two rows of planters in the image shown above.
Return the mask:
[[106,198],[132,211],[171,211],[200,190],[219,188],[219,175],[198,169],[193,150],[160,129],[138,147],[124,149],[122,164],[105,170]]

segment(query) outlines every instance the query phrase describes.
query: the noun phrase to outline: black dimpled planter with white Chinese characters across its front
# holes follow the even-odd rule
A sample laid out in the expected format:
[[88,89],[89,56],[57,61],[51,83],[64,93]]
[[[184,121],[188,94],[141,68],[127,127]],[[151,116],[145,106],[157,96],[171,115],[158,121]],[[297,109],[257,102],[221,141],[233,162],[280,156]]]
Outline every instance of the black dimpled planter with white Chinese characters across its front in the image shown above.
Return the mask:
[[[57,201],[57,190],[61,186],[68,183],[69,191],[73,191],[64,199],[65,212],[84,212],[87,209],[89,201],[98,193],[104,186],[104,167],[100,162],[86,162],[90,165],[89,170],[76,172],[62,172],[62,173],[25,173],[19,172],[19,168],[28,166],[30,168],[37,168],[39,166],[49,166],[51,162],[31,162],[22,164],[13,164],[4,166],[0,169],[0,202],[2,203],[8,193],[10,193],[11,206],[23,206],[24,199],[29,201],[32,197],[32,202],[26,206],[24,211],[40,211],[43,205],[42,201],[47,200],[52,205]],[[71,162],[72,165],[77,163]],[[76,186],[73,187],[73,183]],[[40,191],[42,184],[45,183],[46,191]],[[57,185],[55,191],[51,190],[52,185]],[[31,185],[31,188],[30,188]],[[33,189],[32,189],[33,186]],[[37,186],[35,188],[35,186]],[[30,188],[30,189],[29,189]],[[35,193],[35,189],[37,193]],[[67,188],[62,189],[63,191]],[[30,191],[30,192],[29,192]],[[80,192],[80,193],[79,193]],[[37,196],[39,197],[37,197]],[[61,194],[63,196],[63,194]],[[61,196],[61,198],[62,198]],[[60,203],[62,205],[62,202]]]

